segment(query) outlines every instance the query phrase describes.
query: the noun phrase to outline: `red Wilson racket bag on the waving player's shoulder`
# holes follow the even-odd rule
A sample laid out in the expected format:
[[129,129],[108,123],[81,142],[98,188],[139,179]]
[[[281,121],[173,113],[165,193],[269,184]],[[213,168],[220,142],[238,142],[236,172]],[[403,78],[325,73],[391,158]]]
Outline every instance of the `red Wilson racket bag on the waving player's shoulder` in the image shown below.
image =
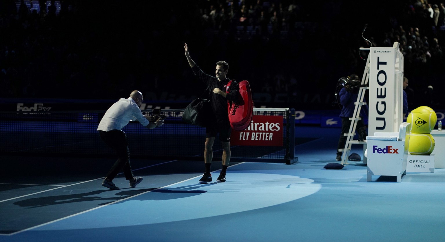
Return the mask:
[[[230,84],[227,83],[226,92],[230,92]],[[243,80],[238,83],[241,99],[239,103],[231,103],[227,100],[230,126],[235,131],[243,131],[251,124],[253,114],[253,100],[249,82]]]

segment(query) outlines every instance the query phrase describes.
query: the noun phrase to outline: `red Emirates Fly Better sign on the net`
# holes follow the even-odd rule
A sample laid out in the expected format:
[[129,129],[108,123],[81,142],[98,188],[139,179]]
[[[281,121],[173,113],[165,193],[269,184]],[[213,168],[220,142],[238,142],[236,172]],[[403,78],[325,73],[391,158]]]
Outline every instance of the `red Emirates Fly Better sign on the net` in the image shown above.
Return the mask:
[[232,131],[231,145],[283,146],[283,116],[252,116],[243,131]]

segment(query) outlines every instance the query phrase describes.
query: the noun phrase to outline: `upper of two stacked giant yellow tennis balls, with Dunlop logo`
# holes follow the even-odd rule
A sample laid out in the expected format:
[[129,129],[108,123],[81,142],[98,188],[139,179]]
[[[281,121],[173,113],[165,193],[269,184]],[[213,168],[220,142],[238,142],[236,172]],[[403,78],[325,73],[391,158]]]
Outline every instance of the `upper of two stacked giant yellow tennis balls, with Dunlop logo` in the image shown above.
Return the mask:
[[411,132],[417,134],[429,134],[436,125],[436,112],[427,106],[417,107],[411,111],[406,122],[411,123]]

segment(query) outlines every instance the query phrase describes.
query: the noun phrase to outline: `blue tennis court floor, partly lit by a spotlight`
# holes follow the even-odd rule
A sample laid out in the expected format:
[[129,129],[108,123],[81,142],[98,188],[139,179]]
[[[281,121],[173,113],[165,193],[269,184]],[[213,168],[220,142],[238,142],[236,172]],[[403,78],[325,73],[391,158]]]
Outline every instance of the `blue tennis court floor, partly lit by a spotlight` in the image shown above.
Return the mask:
[[201,184],[202,160],[132,159],[144,180],[108,190],[113,159],[0,156],[0,241],[444,241],[445,169],[367,182],[324,169],[340,129],[295,129],[297,163],[232,162],[223,183],[221,162]]

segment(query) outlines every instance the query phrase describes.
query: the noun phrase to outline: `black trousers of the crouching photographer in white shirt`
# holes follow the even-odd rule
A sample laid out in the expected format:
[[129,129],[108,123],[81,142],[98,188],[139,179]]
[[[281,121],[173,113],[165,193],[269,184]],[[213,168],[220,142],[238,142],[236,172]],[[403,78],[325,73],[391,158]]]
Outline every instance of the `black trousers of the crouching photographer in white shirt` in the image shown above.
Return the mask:
[[125,179],[132,179],[134,176],[130,166],[130,152],[125,132],[120,130],[99,131],[99,136],[117,154],[117,161],[111,167],[106,177],[113,180],[117,173],[123,169]]

